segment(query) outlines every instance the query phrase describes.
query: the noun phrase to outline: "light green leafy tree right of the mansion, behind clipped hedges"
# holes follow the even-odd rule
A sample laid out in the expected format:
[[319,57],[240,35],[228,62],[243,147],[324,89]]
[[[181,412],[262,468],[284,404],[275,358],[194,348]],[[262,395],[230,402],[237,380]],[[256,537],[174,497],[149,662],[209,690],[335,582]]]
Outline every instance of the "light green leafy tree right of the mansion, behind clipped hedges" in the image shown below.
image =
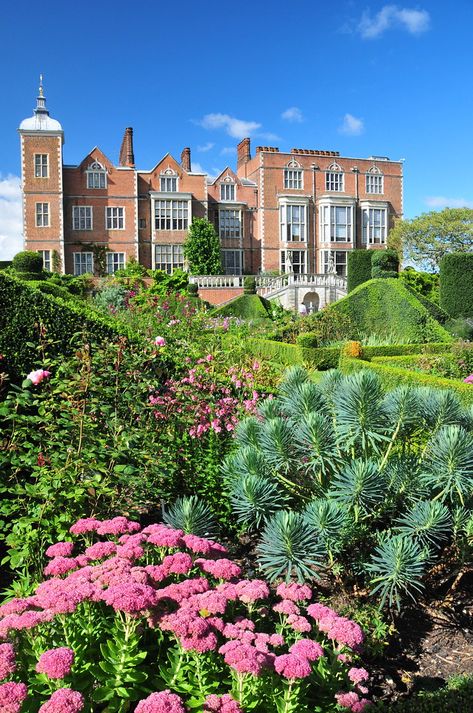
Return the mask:
[[389,244],[402,244],[405,257],[437,270],[447,253],[473,248],[473,209],[445,208],[400,220],[389,234]]

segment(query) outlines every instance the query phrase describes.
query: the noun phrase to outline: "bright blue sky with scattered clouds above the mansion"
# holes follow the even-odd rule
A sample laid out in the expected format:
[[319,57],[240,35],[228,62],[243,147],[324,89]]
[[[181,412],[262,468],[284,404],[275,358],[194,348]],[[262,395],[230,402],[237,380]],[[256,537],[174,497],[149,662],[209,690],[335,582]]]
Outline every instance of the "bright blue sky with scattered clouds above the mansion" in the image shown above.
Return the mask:
[[473,206],[472,26],[471,0],[4,4],[0,259],[21,247],[16,129],[40,72],[66,163],[95,145],[116,161],[133,126],[139,168],[191,146],[215,174],[250,135],[404,158],[406,217]]

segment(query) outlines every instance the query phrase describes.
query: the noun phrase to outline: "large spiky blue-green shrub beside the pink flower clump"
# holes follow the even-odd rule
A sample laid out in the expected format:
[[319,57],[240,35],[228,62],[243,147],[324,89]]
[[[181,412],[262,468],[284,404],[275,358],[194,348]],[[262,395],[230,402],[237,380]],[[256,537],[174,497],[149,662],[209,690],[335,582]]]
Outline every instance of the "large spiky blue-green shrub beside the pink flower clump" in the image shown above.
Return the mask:
[[268,577],[307,579],[325,567],[344,586],[368,585],[381,606],[399,607],[422,591],[439,556],[447,579],[455,576],[473,505],[471,413],[455,395],[385,393],[366,369],[313,384],[295,366],[256,416],[239,424],[224,475],[232,492],[251,478],[279,493],[278,510],[259,521]]

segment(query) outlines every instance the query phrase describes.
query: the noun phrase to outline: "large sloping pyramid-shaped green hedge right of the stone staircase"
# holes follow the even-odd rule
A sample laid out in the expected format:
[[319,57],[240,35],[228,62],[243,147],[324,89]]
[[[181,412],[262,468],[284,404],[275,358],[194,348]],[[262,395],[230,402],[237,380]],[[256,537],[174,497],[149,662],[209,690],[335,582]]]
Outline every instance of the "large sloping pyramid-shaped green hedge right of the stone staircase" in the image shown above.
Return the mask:
[[398,279],[376,279],[358,285],[330,309],[349,317],[353,331],[359,335],[394,334],[400,342],[418,344],[452,339]]

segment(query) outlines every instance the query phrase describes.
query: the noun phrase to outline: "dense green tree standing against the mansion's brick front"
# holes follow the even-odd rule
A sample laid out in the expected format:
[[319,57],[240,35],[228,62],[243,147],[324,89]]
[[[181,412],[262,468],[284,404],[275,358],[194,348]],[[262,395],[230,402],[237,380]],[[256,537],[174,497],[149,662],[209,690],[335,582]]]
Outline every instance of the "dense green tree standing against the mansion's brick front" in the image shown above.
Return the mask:
[[184,257],[193,275],[218,275],[221,271],[220,241],[205,218],[194,218],[184,243]]

